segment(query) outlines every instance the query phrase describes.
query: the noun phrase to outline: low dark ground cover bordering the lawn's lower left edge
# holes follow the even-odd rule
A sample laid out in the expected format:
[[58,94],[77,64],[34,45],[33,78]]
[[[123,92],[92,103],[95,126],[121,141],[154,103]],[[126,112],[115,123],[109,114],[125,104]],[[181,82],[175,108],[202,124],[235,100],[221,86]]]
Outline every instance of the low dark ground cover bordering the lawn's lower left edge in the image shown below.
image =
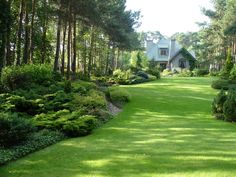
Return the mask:
[[63,133],[58,131],[42,130],[40,132],[33,133],[30,135],[28,140],[21,145],[14,146],[9,149],[0,148],[0,165],[55,144],[64,138]]

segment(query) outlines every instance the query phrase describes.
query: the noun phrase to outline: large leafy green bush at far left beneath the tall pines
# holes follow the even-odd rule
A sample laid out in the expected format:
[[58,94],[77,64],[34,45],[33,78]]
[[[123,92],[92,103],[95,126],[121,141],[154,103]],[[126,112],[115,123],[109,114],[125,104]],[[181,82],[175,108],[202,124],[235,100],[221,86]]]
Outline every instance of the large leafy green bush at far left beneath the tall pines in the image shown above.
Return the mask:
[[1,83],[10,90],[27,88],[32,83],[48,86],[52,81],[52,68],[49,65],[10,66],[1,73]]

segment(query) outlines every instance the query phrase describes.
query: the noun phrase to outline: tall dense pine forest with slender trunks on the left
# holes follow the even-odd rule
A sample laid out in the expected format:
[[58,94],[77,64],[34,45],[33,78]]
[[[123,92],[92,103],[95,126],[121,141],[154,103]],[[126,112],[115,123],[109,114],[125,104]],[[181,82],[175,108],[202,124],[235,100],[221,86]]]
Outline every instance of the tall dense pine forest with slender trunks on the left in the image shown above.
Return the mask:
[[124,51],[139,48],[139,12],[125,0],[1,0],[0,71],[5,66],[53,64],[83,76],[122,67]]

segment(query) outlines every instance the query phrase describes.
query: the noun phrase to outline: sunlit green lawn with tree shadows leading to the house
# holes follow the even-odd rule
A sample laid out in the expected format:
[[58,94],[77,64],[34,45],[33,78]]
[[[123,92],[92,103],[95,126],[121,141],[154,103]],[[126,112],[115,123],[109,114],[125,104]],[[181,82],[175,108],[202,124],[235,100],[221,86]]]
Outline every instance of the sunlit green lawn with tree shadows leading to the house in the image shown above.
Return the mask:
[[210,83],[164,78],[127,86],[132,102],[105,126],[1,167],[0,176],[234,177],[236,125],[211,116]]

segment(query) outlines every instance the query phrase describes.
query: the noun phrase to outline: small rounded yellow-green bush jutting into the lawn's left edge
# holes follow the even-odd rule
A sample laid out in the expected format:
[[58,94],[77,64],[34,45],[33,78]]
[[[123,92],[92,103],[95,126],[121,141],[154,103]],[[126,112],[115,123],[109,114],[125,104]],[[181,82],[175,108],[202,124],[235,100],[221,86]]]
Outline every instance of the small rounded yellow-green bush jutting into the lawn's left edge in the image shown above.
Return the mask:
[[124,88],[110,87],[109,92],[111,102],[118,107],[131,100],[131,95]]

